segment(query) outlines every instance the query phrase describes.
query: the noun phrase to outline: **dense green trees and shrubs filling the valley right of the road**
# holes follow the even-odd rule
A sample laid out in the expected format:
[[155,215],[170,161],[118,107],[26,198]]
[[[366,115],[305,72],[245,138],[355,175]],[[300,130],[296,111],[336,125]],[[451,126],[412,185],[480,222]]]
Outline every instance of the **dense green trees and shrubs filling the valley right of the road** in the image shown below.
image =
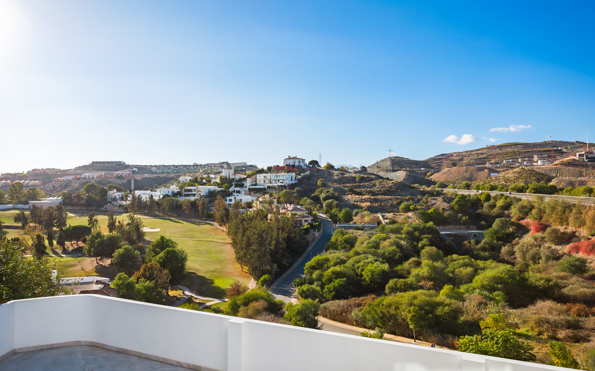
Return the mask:
[[[337,229],[306,264],[298,295],[350,325],[407,337],[415,328],[472,353],[593,364],[595,344],[575,344],[595,335],[595,274],[573,253],[595,253],[585,236],[595,231],[595,207],[487,193],[449,199],[456,213],[403,202],[419,222]],[[453,220],[480,224],[484,239],[443,239],[435,225]],[[455,336],[464,337],[458,345]]]

